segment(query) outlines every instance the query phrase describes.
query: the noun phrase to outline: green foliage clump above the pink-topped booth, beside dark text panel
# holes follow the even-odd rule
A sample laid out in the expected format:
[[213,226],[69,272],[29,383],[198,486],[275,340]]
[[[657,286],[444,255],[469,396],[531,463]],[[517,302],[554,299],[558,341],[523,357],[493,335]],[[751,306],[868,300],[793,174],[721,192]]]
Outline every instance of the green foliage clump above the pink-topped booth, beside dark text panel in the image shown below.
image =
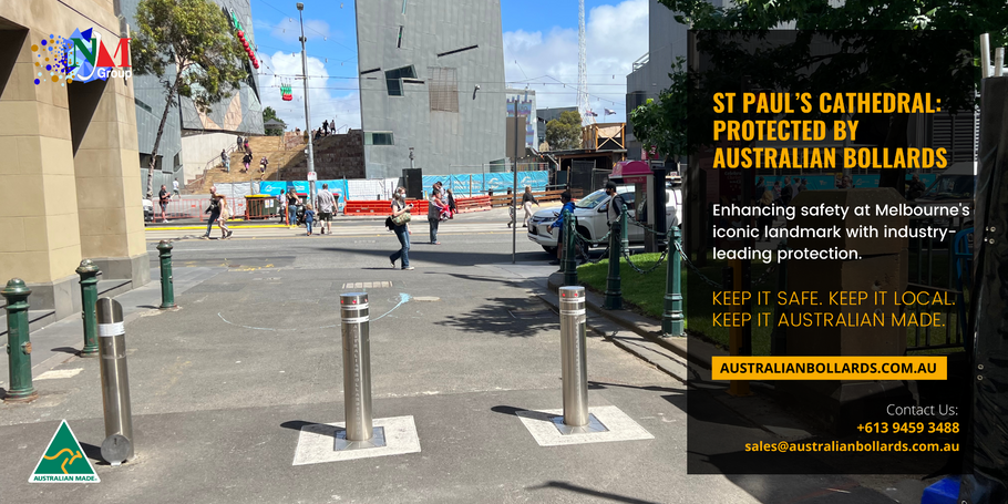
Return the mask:
[[677,58],[669,78],[672,85],[662,91],[658,101],[648,99],[647,103],[630,111],[630,124],[634,136],[645,146],[657,147],[658,153],[677,158],[691,154],[687,147],[688,79],[682,69],[685,59]]

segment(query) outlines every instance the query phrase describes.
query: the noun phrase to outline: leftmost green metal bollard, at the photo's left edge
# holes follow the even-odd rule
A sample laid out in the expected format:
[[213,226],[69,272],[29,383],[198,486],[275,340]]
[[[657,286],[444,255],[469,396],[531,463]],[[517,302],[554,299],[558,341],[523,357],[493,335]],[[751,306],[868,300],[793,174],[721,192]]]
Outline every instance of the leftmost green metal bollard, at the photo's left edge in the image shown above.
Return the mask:
[[31,339],[28,328],[28,296],[31,289],[20,278],[7,282],[0,290],[7,298],[7,354],[10,388],[4,402],[31,402],[39,392],[31,384]]

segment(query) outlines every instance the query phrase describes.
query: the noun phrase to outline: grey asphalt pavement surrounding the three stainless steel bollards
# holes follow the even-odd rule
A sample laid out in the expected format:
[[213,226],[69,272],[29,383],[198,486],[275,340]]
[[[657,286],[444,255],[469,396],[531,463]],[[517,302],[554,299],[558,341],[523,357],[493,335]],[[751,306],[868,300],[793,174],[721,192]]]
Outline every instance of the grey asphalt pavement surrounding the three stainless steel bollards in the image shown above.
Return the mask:
[[[525,412],[563,407],[558,315],[539,298],[556,267],[521,229],[513,264],[504,223],[506,213],[449,223],[440,246],[421,244],[426,225],[414,225],[412,271],[390,267],[398,241],[381,223],[227,240],[148,230],[155,268],[156,241],[176,239],[179,308],[154,308],[156,284],[117,298],[136,457],[101,461],[99,359],[72,353],[71,318],[32,335],[40,399],[0,405],[0,501],[894,502],[844,476],[687,475],[686,385],[594,333],[589,407],[615,407],[648,436],[541,445]],[[305,432],[346,420],[338,296],[361,290],[376,423],[411,418],[419,451],[296,465]],[[28,483],[63,419],[101,483]],[[778,439],[724,421],[751,442]]]

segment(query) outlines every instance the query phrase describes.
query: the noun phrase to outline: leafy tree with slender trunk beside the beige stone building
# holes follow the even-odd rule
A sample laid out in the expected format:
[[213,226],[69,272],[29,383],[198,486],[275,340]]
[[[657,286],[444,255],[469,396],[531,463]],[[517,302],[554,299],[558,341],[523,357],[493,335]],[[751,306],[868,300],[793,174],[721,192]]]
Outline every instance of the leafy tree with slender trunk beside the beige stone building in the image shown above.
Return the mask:
[[[196,109],[230,97],[248,75],[245,51],[232,34],[227,18],[209,0],[142,0],[136,7],[133,71],[155,75],[165,90],[165,107],[151,151],[147,197],[154,195],[154,166],[175,95],[193,100]],[[168,73],[171,66],[175,73]]]

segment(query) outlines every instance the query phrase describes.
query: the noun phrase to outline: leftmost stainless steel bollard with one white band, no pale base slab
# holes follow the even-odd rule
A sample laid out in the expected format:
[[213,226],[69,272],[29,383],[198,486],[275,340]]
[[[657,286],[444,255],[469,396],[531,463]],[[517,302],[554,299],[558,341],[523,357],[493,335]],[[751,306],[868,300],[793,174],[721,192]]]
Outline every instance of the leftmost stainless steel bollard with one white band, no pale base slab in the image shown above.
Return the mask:
[[111,298],[97,300],[99,352],[102,368],[102,405],[105,441],[102,457],[112,465],[133,459],[133,413],[126,372],[126,331],[123,307]]

